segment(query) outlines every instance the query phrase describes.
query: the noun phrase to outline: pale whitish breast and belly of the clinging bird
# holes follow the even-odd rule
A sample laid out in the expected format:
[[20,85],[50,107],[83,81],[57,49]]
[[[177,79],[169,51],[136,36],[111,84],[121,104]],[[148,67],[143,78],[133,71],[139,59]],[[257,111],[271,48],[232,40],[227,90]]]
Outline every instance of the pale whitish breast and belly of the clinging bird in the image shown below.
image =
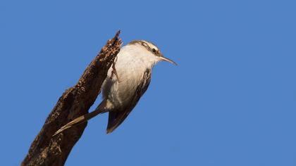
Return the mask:
[[147,68],[152,68],[157,62],[153,55],[142,46],[124,46],[117,55],[116,75],[112,75],[112,68],[103,83],[103,98],[109,99],[113,106],[123,106],[134,96],[138,84]]

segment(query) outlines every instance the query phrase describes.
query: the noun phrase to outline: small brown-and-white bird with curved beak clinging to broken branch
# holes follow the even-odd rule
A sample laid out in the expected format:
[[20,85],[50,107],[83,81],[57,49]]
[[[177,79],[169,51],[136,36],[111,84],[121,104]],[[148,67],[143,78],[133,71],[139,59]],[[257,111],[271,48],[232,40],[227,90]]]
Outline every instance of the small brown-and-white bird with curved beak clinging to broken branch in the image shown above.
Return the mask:
[[113,132],[128,117],[149,87],[152,68],[160,61],[177,65],[173,60],[164,57],[156,44],[145,40],[130,41],[121,48],[113,66],[108,70],[101,86],[102,101],[99,106],[94,111],[68,122],[54,135],[101,113],[109,113],[106,133]]

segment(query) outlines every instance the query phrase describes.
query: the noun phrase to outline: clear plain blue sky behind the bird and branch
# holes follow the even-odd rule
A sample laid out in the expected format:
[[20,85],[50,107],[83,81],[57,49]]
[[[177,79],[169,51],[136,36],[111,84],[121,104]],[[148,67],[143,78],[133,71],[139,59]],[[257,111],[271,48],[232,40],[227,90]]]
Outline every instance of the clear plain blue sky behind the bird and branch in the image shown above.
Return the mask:
[[156,65],[112,134],[107,115],[91,120],[66,165],[296,165],[295,8],[1,1],[0,165],[20,164],[58,97],[117,30],[125,44],[153,41],[179,65]]

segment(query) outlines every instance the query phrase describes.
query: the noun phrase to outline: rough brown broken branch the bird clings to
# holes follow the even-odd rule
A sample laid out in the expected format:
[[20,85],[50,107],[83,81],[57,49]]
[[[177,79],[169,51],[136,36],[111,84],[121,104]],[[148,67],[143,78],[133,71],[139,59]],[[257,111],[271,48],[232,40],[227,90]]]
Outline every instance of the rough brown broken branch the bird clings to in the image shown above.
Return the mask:
[[78,83],[67,89],[58,99],[21,165],[64,165],[71,149],[82,136],[87,122],[56,136],[52,135],[67,122],[87,113],[96,100],[101,84],[121,48],[119,33],[118,31],[113,39],[107,41],[85,69]]

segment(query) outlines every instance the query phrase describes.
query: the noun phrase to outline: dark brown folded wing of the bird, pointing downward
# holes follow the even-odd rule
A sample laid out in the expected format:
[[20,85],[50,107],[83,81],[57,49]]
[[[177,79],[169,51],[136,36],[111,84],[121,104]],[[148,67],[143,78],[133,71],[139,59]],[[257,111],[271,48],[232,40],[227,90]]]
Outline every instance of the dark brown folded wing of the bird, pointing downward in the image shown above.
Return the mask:
[[141,96],[147,90],[150,80],[151,80],[151,70],[147,69],[146,72],[144,72],[142,81],[137,86],[135,94],[132,97],[132,102],[130,102],[130,104],[125,108],[123,108],[121,111],[109,112],[107,133],[113,132],[113,130],[116,129],[119,125],[121,125],[121,123],[125,120],[125,118],[128,117],[132,109],[136,106],[137,102],[140,100]]

